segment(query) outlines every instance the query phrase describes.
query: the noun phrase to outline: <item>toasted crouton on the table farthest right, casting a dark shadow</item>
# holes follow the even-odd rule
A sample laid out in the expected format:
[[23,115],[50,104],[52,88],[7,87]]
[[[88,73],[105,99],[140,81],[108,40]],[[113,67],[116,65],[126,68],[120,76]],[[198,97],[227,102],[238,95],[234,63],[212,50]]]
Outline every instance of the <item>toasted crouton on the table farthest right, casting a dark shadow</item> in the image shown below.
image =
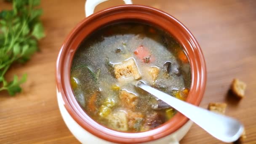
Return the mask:
[[246,84],[238,79],[234,79],[231,84],[231,91],[239,98],[245,96]]

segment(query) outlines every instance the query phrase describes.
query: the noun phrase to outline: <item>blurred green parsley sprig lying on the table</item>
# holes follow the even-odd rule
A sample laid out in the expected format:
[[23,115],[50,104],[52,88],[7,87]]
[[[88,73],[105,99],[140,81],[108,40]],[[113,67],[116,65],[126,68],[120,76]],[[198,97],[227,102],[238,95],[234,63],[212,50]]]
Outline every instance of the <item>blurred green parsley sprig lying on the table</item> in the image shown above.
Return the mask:
[[43,11],[37,8],[40,0],[12,1],[12,10],[0,12],[0,91],[10,95],[21,91],[20,84],[26,81],[24,74],[20,79],[13,76],[12,81],[5,79],[5,73],[14,62],[24,63],[38,51],[37,41],[45,36],[40,16]]

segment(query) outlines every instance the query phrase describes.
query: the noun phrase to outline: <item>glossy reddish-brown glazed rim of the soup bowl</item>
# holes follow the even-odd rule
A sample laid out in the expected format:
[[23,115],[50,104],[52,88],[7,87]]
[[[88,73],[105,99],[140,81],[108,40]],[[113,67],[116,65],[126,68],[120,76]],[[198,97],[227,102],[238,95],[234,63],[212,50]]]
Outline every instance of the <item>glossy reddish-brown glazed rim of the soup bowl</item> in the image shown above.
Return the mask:
[[189,57],[192,83],[187,102],[199,105],[206,85],[206,67],[203,53],[195,37],[173,16],[156,8],[144,5],[120,5],[94,13],[85,18],[72,30],[64,41],[56,64],[56,83],[64,106],[72,118],[86,131],[115,143],[143,143],[163,138],[181,128],[189,120],[177,113],[163,125],[146,132],[126,133],[106,128],[91,119],[80,107],[70,86],[72,58],[80,43],[96,29],[121,21],[137,21],[155,25],[173,35],[183,46]]

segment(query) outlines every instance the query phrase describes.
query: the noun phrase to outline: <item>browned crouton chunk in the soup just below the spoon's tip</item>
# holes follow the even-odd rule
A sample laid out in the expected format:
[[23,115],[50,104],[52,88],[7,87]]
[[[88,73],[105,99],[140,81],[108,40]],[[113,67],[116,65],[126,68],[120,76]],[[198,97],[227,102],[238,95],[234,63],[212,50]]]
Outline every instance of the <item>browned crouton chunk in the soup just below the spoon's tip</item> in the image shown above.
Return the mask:
[[136,108],[136,104],[138,103],[138,97],[135,94],[129,93],[126,90],[122,90],[120,91],[119,98],[125,108],[131,110],[134,110]]

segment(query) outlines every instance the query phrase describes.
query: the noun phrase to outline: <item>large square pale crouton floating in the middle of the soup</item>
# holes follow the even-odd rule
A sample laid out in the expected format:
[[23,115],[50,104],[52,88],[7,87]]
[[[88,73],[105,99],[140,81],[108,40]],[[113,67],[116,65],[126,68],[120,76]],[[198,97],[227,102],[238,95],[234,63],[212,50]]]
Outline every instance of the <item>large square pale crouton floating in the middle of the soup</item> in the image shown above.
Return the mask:
[[139,69],[136,65],[136,62],[134,59],[128,59],[123,61],[120,64],[114,65],[115,69],[115,78],[119,79],[121,77],[132,77],[135,80],[138,80],[141,78],[141,74],[139,72]]

